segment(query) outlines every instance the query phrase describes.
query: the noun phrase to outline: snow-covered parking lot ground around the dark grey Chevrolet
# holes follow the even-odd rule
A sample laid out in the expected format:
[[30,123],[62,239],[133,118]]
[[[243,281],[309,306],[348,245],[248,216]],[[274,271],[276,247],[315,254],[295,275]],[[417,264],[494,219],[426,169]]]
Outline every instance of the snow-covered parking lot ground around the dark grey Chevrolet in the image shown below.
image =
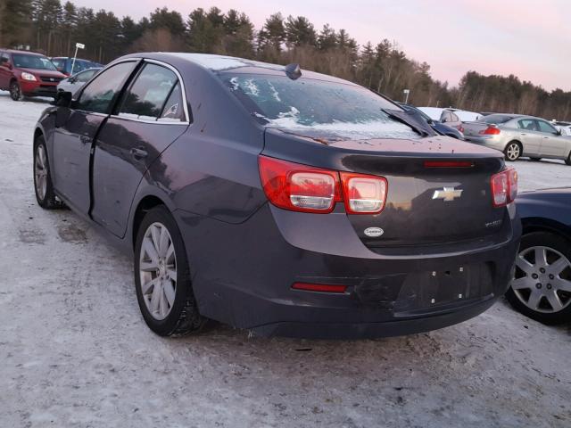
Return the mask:
[[[69,210],[41,210],[31,139],[46,102],[0,92],[1,427],[568,427],[571,329],[504,301],[432,333],[376,341],[162,339],[131,260]],[[518,161],[521,189],[571,185]]]

